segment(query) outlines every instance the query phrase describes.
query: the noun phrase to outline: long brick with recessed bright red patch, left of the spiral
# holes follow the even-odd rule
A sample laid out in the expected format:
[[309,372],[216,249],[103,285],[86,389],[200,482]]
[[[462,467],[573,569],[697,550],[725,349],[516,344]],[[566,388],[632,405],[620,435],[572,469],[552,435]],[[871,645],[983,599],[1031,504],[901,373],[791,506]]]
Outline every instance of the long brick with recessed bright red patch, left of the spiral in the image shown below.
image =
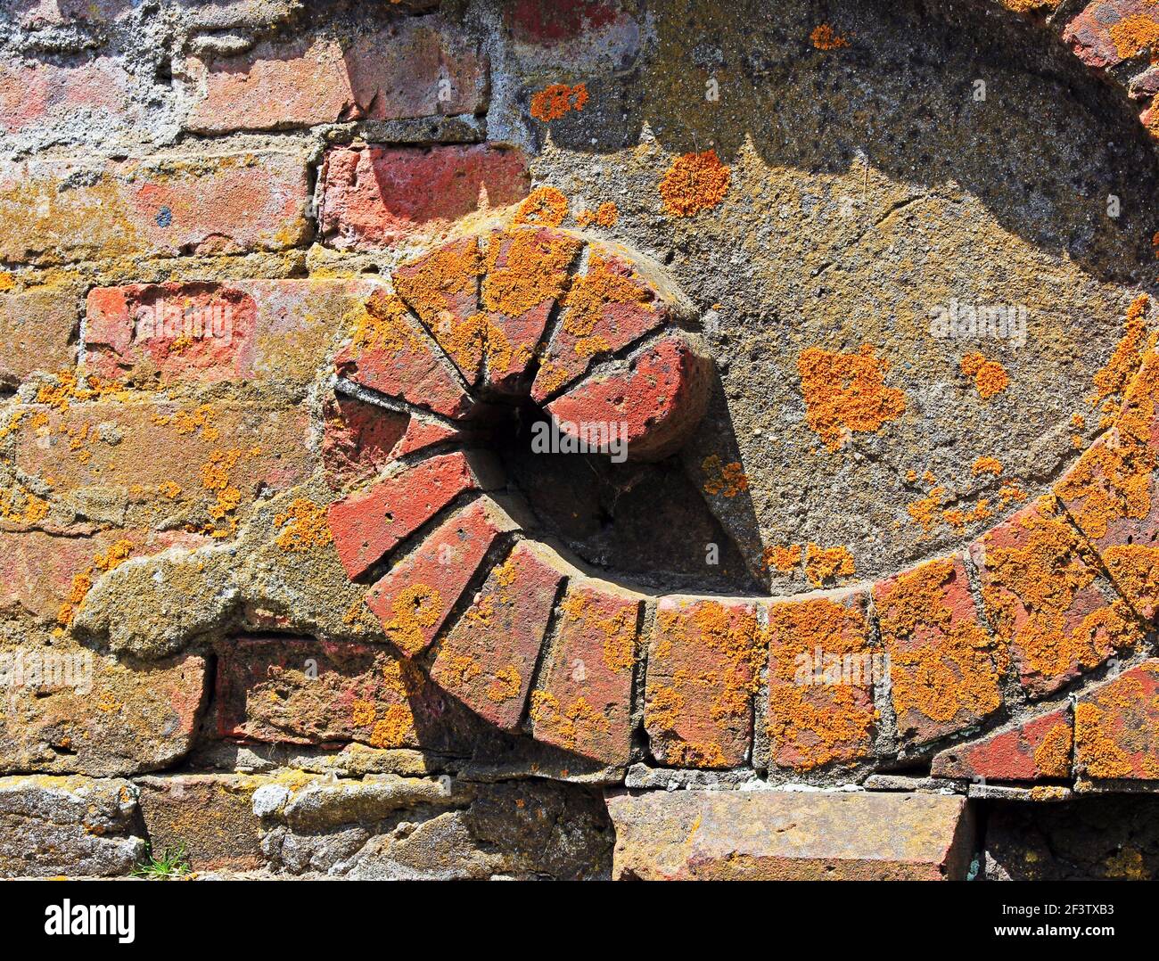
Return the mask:
[[309,384],[337,318],[358,315],[372,281],[131,284],[88,293],[85,363],[101,377],[162,383]]

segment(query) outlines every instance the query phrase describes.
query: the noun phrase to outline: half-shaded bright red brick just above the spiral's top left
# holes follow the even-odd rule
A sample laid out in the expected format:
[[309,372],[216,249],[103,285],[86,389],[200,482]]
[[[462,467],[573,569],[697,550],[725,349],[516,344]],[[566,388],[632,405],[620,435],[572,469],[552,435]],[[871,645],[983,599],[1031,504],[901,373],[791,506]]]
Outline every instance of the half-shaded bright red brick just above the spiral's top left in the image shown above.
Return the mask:
[[341,249],[391,247],[438,231],[480,209],[527,196],[531,176],[517,150],[474,146],[335,147],[322,169],[322,235]]

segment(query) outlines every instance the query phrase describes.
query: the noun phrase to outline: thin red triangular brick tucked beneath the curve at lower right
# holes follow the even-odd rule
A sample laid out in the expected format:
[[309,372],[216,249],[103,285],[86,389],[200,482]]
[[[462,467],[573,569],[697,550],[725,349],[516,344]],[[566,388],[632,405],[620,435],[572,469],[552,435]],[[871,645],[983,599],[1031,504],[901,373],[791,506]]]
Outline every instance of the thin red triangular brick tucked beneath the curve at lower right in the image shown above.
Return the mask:
[[1035,781],[1069,778],[1073,729],[1069,707],[1003,728],[934,755],[936,778]]

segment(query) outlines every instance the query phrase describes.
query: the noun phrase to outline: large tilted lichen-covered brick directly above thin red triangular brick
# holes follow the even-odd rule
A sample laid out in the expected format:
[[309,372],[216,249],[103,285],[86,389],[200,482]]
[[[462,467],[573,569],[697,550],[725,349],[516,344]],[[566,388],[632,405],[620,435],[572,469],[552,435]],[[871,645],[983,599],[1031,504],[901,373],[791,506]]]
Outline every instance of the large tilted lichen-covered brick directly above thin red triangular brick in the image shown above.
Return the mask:
[[986,617],[1032,694],[1057,691],[1143,640],[1134,612],[1114,596],[1054,497],[1000,524],[970,546],[970,556]]

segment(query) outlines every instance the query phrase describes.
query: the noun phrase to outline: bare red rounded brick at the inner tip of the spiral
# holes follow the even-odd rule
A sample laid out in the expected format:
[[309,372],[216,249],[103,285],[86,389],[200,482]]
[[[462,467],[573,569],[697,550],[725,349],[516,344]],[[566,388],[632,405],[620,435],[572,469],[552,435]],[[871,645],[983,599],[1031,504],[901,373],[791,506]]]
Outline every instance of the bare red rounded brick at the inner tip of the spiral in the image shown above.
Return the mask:
[[659,460],[675,453],[705,415],[709,362],[677,335],[664,337],[547,405],[556,425],[584,436],[584,425],[615,425],[627,454]]

